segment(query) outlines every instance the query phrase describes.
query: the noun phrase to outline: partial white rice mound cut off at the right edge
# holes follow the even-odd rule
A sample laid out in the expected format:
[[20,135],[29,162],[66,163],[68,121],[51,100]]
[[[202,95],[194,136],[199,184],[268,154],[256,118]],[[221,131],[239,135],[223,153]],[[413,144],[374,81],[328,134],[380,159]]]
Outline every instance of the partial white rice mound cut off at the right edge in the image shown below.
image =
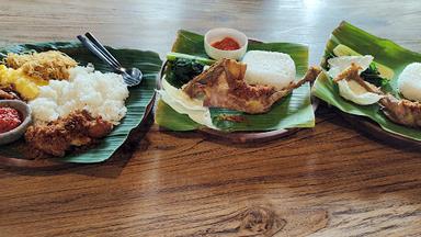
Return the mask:
[[408,65],[399,75],[398,86],[405,98],[421,101],[421,63]]

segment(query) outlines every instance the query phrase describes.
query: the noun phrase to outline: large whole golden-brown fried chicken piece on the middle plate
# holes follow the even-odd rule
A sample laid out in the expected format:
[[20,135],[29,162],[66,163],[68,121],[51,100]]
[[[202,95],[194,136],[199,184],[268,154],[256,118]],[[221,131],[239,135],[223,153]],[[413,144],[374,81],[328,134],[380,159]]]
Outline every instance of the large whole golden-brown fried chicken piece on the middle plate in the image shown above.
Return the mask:
[[310,68],[298,82],[281,91],[271,86],[250,86],[244,81],[247,65],[234,59],[220,59],[183,87],[191,98],[204,98],[204,106],[225,108],[250,114],[268,112],[295,88],[312,81],[320,69]]

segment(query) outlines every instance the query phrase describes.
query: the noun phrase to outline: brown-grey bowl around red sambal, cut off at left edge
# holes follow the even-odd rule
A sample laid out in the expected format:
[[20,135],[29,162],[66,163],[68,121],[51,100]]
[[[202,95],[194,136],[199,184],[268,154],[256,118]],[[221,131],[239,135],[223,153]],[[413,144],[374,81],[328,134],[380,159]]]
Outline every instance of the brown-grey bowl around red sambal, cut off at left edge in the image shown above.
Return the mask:
[[13,143],[19,139],[26,132],[27,126],[30,126],[32,122],[31,108],[26,103],[19,100],[0,100],[0,108],[3,106],[18,110],[22,115],[23,122],[14,129],[7,133],[0,133],[0,145]]

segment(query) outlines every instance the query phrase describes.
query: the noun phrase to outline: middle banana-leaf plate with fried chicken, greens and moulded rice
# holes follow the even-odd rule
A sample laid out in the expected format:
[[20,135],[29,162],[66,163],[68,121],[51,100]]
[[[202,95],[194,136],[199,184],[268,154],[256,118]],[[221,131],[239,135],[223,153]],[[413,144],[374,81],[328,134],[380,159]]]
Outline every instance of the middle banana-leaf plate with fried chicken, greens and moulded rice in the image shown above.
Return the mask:
[[[204,35],[179,31],[160,75],[156,109],[156,123],[160,127],[197,131],[218,139],[247,143],[274,139],[315,126],[317,105],[311,102],[307,81],[318,71],[308,69],[307,46],[248,40],[246,55],[232,60],[210,58],[205,43]],[[263,67],[272,67],[273,61],[282,63],[274,67],[283,68],[287,64],[293,67],[291,81],[277,88],[276,83],[285,81],[258,81],[263,76],[275,80],[285,76],[273,77],[265,71],[268,68]]]

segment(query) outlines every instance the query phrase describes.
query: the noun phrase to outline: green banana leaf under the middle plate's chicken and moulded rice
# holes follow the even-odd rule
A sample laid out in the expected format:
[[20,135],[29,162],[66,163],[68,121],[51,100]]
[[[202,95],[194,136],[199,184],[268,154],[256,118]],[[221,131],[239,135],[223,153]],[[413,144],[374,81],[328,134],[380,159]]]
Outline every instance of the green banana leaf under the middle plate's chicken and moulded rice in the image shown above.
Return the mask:
[[[270,50],[289,54],[296,65],[296,77],[300,78],[307,71],[307,46],[293,43],[250,41],[248,50]],[[204,36],[184,30],[179,31],[172,52],[208,58],[204,48]],[[240,115],[243,120],[236,122],[225,120],[227,115]],[[238,111],[212,108],[210,117],[213,124],[223,132],[314,127],[315,114],[310,100],[310,86],[304,84],[294,90],[292,94],[275,103],[272,110],[265,114],[251,115]],[[161,100],[156,110],[156,122],[160,126],[172,131],[194,131],[202,127],[201,124],[195,123],[187,115],[177,113]]]

